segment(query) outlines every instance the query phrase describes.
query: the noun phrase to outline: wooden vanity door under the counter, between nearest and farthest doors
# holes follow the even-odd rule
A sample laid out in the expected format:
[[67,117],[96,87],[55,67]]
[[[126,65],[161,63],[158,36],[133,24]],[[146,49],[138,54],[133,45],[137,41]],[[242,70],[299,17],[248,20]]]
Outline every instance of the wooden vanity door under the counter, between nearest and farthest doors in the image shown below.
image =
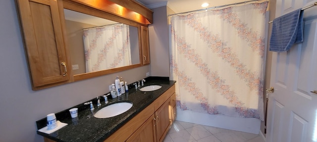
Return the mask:
[[156,117],[156,130],[157,142],[162,142],[171,125],[170,121],[170,99],[168,99],[159,109],[155,112]]

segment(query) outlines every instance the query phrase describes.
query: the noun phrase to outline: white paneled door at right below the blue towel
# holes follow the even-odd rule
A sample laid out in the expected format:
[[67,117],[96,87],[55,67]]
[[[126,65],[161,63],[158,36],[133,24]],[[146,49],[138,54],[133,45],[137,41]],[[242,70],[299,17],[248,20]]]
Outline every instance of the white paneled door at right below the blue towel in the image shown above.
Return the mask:
[[272,55],[266,142],[317,142],[317,6],[304,13],[304,42]]

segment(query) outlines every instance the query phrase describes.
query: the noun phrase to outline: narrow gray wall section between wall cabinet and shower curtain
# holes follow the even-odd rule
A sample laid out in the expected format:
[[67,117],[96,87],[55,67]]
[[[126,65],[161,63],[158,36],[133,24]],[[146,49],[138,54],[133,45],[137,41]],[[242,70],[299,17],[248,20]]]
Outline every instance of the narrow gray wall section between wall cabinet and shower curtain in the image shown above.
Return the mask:
[[169,76],[169,39],[166,6],[152,9],[149,25],[151,76]]

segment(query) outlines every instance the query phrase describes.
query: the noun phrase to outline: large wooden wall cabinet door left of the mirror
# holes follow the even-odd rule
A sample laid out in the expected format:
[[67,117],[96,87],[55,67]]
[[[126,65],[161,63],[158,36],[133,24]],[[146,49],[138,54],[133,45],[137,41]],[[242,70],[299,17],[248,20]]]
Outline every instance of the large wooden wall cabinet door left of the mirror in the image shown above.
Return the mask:
[[17,0],[17,6],[32,89],[69,80],[58,9],[62,1]]

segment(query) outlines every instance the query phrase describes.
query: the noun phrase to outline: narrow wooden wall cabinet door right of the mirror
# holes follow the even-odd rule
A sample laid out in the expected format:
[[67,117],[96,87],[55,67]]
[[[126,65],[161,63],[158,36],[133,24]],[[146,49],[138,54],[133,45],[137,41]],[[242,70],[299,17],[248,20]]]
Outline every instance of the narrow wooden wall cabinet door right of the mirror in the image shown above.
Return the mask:
[[143,65],[150,64],[150,44],[148,27],[141,26],[141,45]]

